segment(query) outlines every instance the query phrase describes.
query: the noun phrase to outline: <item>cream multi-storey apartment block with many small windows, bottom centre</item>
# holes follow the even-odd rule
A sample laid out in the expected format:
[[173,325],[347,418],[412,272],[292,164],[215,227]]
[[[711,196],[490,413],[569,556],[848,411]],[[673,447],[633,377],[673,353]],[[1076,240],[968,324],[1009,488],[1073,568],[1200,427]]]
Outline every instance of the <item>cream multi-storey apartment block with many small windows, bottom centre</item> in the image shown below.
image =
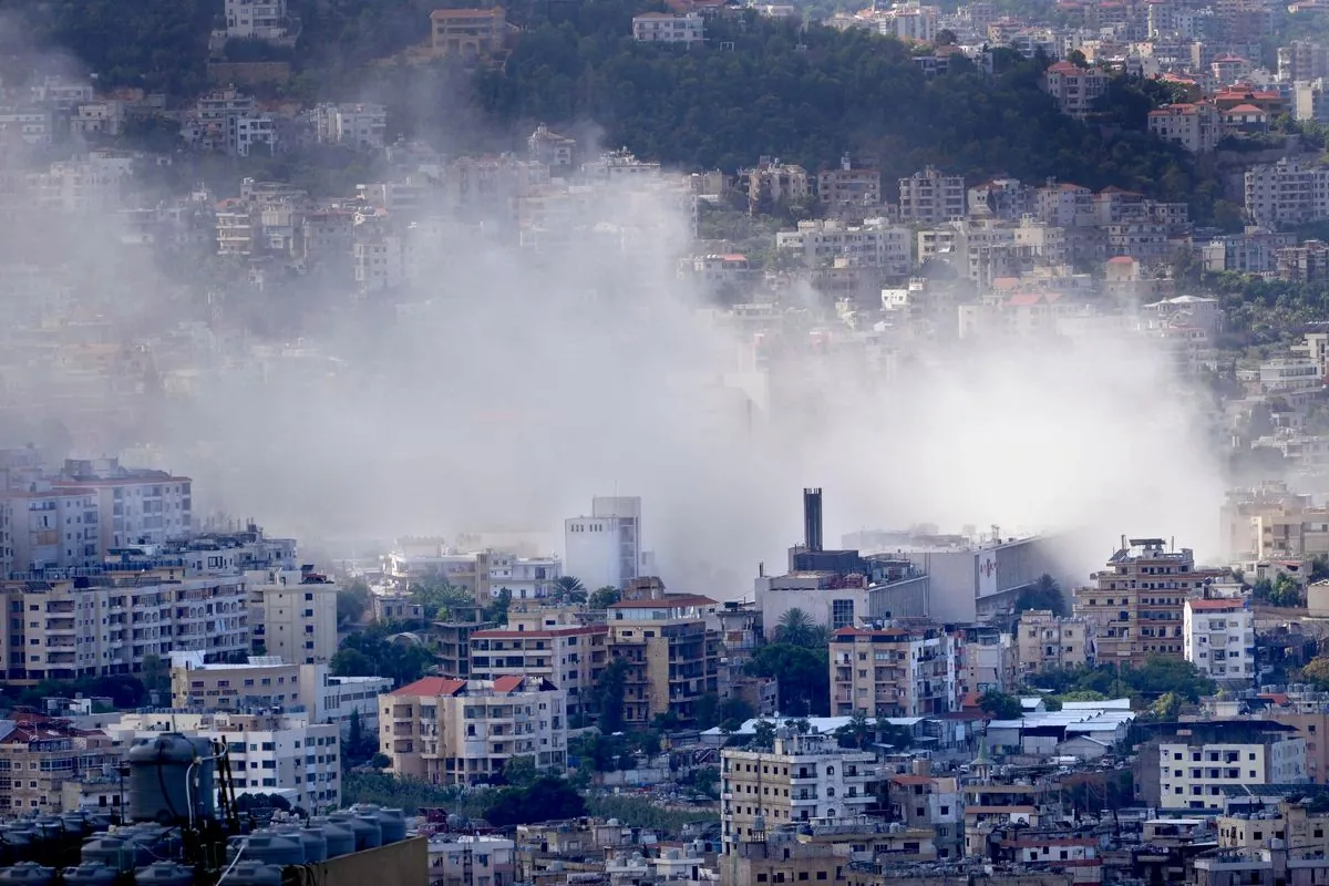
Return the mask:
[[724,854],[791,822],[855,818],[877,801],[876,754],[847,751],[833,736],[781,727],[773,749],[720,752]]

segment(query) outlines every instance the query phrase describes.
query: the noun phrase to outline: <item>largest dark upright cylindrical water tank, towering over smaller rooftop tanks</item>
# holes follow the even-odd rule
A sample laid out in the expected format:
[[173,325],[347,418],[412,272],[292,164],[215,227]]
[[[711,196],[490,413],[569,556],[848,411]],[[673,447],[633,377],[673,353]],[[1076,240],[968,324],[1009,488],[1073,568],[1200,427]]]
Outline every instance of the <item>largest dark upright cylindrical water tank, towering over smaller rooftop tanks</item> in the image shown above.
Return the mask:
[[207,739],[166,732],[129,749],[129,817],[177,822],[217,814],[215,764]]

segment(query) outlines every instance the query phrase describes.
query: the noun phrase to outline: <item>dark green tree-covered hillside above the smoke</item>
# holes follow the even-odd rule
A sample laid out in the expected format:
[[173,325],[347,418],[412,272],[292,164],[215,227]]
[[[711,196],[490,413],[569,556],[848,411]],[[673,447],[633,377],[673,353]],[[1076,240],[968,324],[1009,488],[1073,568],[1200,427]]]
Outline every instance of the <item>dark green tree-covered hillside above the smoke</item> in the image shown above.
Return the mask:
[[[221,0],[132,5],[0,0],[32,23],[40,45],[65,48],[104,84],[177,100],[203,89]],[[684,169],[732,173],[767,155],[816,170],[849,153],[885,181],[929,163],[970,181],[1055,177],[1187,201],[1196,221],[1215,218],[1216,178],[1144,132],[1148,109],[1167,98],[1156,84],[1115,82],[1100,121],[1083,124],[1039,89],[1046,60],[997,50],[991,74],[957,58],[925,77],[896,40],[751,11],[708,20],[704,46],[634,43],[631,17],[658,7],[651,0],[510,4],[521,33],[497,68],[381,64],[425,39],[432,5],[459,4],[291,0],[303,31],[283,50],[296,72],[284,93],[383,101],[395,132],[448,150],[514,149],[546,122]]]

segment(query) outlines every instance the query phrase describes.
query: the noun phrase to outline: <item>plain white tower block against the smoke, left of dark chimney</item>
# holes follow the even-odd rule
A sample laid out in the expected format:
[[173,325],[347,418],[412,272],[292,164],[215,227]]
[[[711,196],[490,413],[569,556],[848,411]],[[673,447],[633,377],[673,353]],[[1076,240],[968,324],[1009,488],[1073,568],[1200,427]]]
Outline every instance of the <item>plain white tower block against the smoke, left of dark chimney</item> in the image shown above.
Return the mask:
[[601,497],[591,499],[590,517],[563,522],[567,575],[587,588],[622,588],[642,570],[642,499]]

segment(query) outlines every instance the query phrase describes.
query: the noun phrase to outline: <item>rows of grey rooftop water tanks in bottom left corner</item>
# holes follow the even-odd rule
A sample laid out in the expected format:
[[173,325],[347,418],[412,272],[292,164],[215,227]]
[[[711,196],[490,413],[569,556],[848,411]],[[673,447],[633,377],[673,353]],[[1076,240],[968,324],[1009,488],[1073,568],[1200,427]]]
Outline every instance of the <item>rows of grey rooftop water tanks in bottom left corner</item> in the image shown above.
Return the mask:
[[[108,830],[109,822],[73,816],[70,829],[65,829],[64,818],[52,816],[0,828],[0,843],[9,838],[39,838],[56,828],[68,838],[70,829],[78,828],[73,833],[86,836],[80,863],[64,869],[33,861],[12,863],[0,870],[0,886],[126,886],[130,881],[133,886],[194,886],[195,869],[183,863],[178,828],[140,822]],[[282,869],[288,865],[323,862],[405,837],[405,816],[400,809],[372,805],[352,806],[306,824],[274,824],[231,838],[226,885],[280,886]]]

